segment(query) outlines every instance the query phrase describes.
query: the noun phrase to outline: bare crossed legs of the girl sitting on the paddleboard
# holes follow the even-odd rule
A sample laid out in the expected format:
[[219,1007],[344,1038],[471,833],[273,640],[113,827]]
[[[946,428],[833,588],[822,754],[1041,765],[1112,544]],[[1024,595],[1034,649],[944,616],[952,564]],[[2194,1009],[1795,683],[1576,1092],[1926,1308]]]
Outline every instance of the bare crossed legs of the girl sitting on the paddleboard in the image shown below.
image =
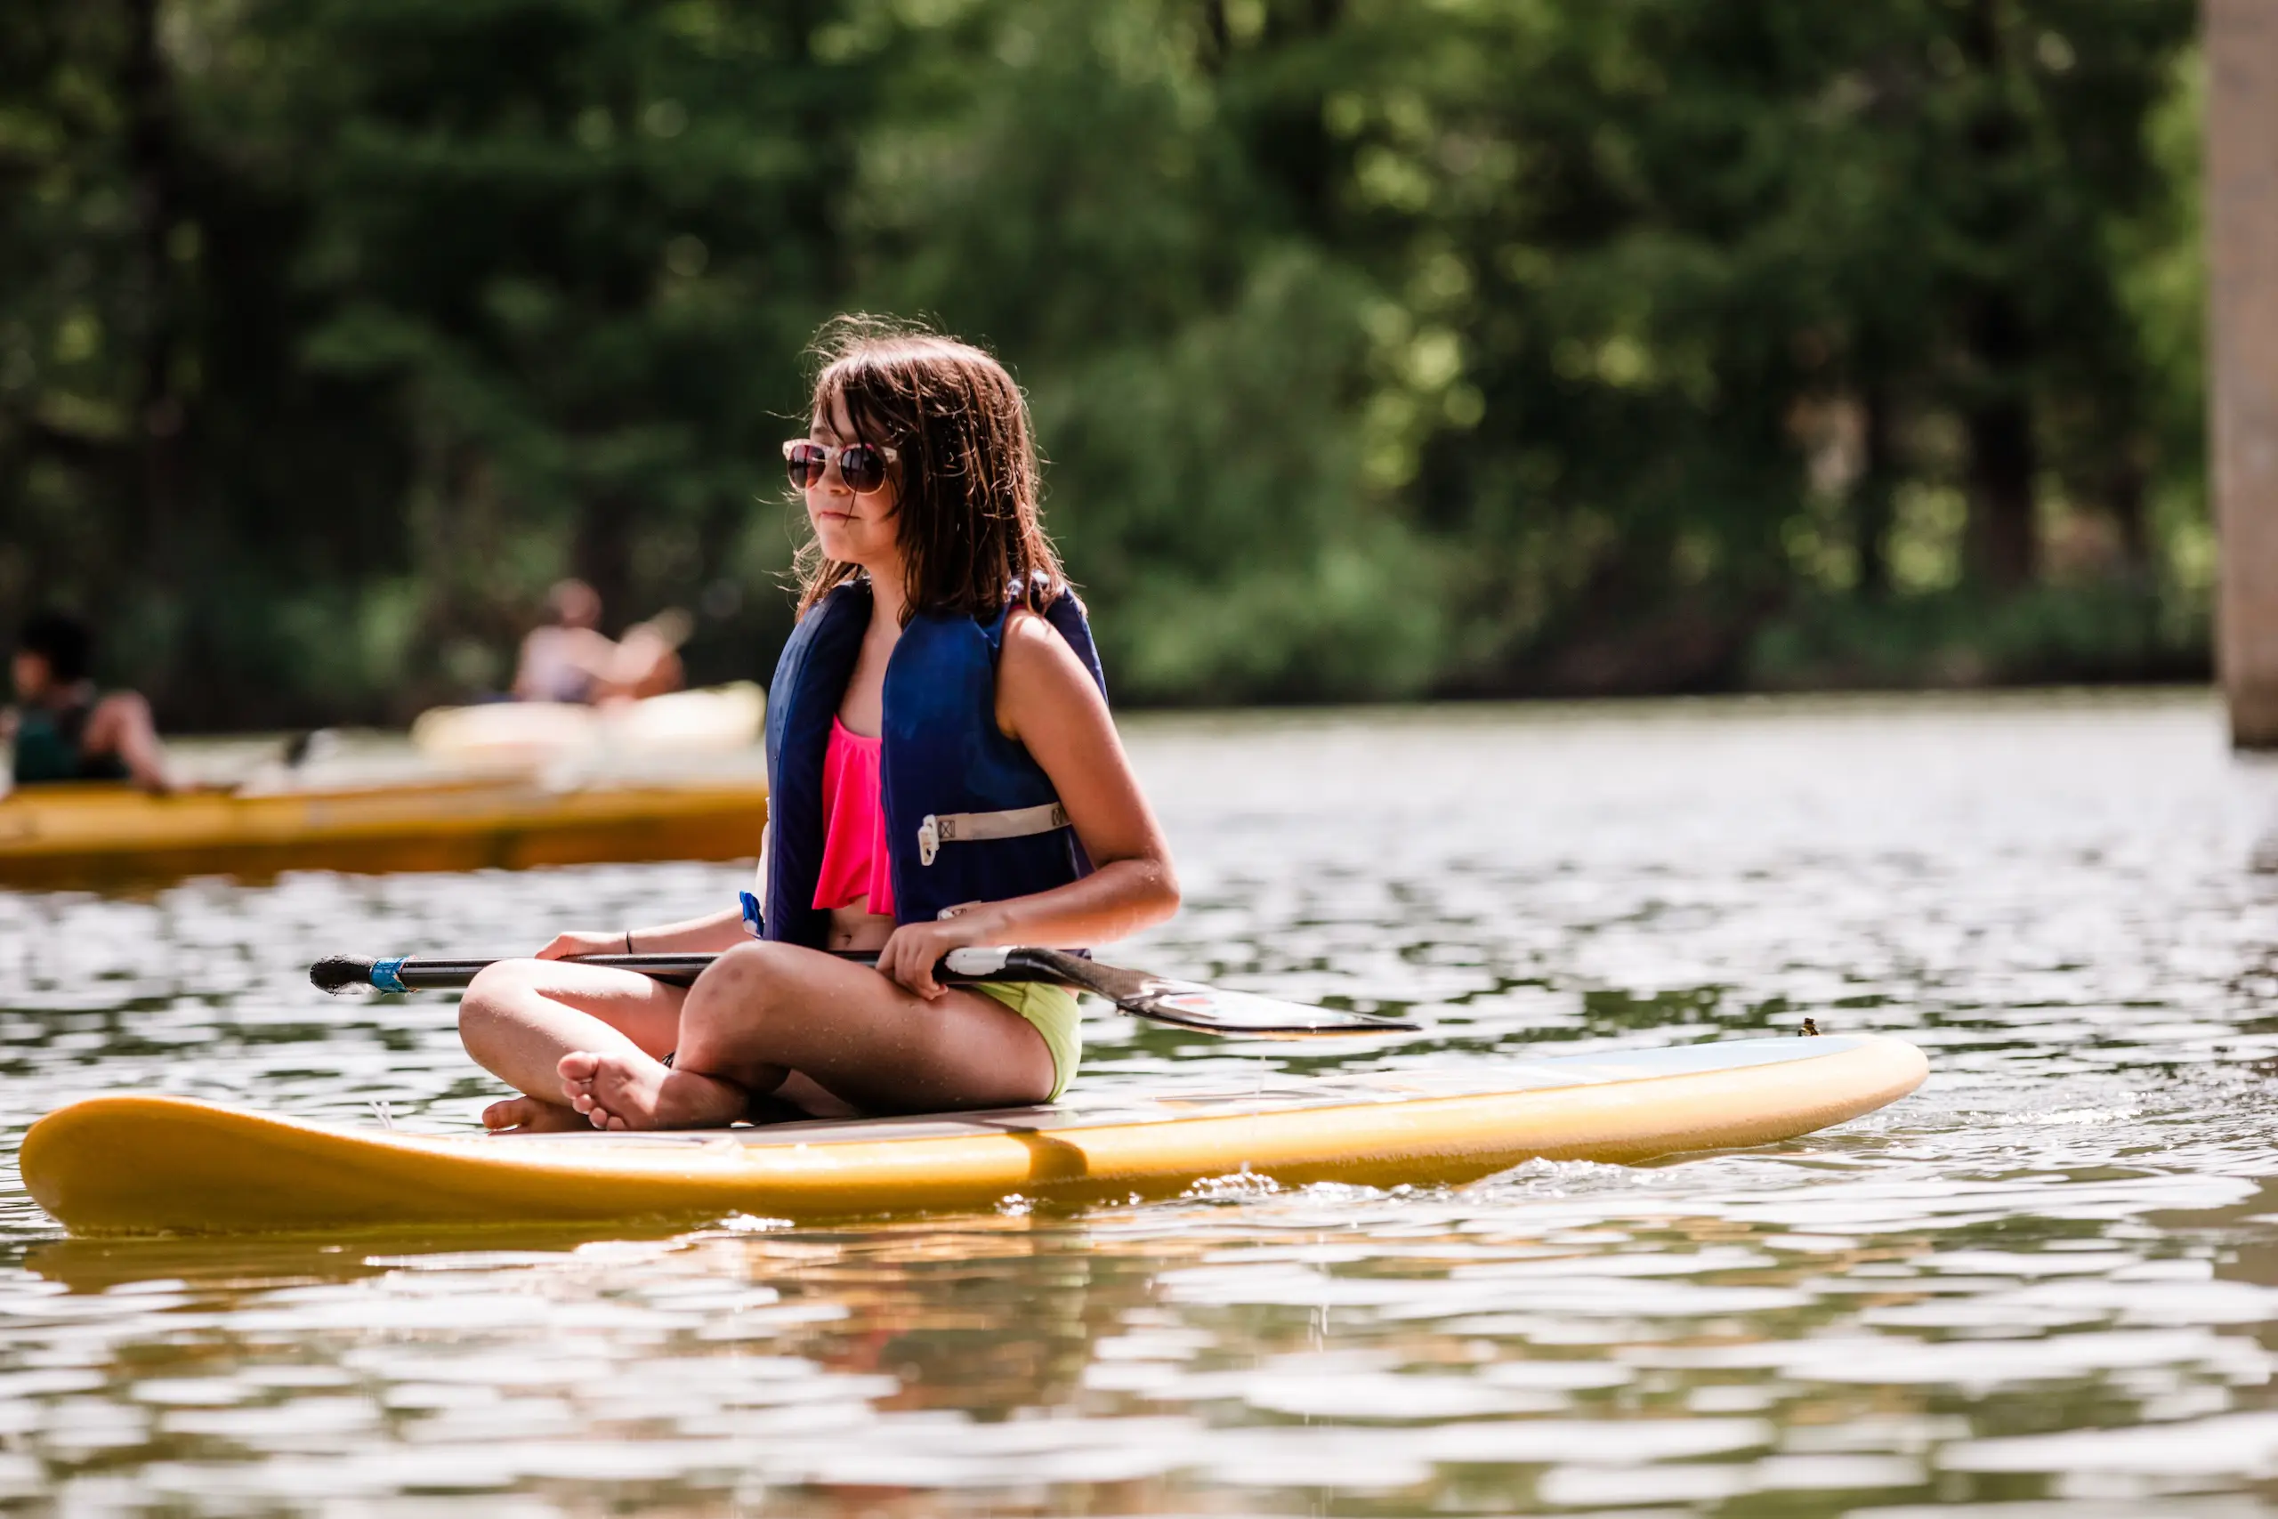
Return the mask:
[[[738,1118],[1043,1102],[1052,1052],[977,991],[927,1002],[868,966],[749,943],[679,988],[572,961],[501,961],[458,1011],[467,1052],[524,1098],[492,1130],[686,1130]],[[672,1052],[672,1066],[663,1057]]]

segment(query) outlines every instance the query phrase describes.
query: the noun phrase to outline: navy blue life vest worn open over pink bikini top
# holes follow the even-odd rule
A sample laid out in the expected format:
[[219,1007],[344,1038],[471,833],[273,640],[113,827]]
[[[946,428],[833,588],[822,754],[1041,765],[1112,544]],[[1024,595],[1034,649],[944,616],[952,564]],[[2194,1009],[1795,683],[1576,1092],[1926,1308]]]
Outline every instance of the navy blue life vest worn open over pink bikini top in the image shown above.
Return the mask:
[[[927,818],[1059,802],[1043,767],[995,724],[995,663],[1011,606],[989,622],[916,613],[886,660],[879,802],[895,922],[929,922],[945,906],[1025,897],[1091,875],[1071,827],[941,843],[932,863],[920,859],[918,831]],[[1107,676],[1091,647],[1084,604],[1062,590],[1043,617],[1105,695]],[[822,752],[868,626],[870,583],[847,581],[806,613],[775,663],[768,688],[768,938],[816,950],[829,938],[831,915],[813,906],[822,875]]]

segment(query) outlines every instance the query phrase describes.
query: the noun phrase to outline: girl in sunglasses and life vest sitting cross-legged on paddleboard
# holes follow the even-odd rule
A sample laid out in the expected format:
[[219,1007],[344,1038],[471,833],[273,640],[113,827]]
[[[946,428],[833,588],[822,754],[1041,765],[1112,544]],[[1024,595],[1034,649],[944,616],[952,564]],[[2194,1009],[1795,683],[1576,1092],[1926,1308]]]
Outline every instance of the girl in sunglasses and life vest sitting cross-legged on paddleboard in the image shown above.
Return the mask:
[[[1178,909],[1036,519],[1021,389],[927,332],[850,321],[825,344],[809,435],[784,444],[813,542],[768,692],[763,922],[570,931],[478,975],[460,1036],[526,1093],[492,1130],[1046,1102],[1082,1052],[1075,995],[943,986],[934,963]],[[686,991],[565,963],[683,950],[720,952]],[[877,950],[877,970],[825,950]]]

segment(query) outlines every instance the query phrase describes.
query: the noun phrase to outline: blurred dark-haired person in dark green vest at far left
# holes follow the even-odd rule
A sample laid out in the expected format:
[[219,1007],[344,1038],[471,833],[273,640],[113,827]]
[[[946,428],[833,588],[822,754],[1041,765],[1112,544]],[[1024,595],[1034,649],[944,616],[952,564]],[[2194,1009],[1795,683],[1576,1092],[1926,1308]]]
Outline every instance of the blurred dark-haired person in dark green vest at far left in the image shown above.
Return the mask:
[[0,713],[16,786],[134,781],[175,790],[150,704],[132,690],[98,692],[93,663],[96,635],[77,617],[39,613],[23,624],[9,660],[16,706]]

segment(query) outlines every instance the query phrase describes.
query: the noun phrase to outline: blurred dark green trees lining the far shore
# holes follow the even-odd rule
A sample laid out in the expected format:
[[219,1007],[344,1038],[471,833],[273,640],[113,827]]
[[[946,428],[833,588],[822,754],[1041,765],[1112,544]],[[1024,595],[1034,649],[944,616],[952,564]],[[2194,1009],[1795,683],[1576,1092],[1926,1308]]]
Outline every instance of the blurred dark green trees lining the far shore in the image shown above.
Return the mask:
[[189,722],[765,674],[836,310],[1148,699],[2203,660],[2189,0],[18,0],[0,613]]

